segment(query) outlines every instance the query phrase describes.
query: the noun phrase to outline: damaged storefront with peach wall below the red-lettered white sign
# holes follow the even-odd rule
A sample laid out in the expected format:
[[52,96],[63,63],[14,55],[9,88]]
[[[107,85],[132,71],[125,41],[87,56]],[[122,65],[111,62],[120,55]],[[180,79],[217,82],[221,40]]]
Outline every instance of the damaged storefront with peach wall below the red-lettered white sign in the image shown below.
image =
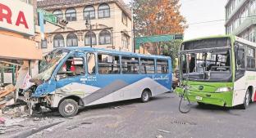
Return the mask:
[[38,73],[43,54],[34,41],[34,7],[26,2],[0,2],[0,86],[15,84],[18,71]]

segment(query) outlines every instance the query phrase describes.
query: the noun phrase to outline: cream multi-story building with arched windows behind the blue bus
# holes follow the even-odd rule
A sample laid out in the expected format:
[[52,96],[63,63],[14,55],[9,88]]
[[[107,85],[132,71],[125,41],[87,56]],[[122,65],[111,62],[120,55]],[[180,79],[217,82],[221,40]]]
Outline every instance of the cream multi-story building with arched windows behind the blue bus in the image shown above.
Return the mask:
[[[132,51],[131,13],[122,0],[41,0],[38,8],[68,21],[66,28],[45,23],[43,53],[56,47],[107,48]],[[86,20],[89,18],[92,31]]]

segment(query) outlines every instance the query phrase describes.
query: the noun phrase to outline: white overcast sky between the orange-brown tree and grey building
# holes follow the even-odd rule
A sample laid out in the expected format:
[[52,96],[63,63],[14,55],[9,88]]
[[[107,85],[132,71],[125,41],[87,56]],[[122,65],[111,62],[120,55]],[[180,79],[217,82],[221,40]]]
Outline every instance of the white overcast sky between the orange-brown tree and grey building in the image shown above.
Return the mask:
[[[125,0],[130,2],[131,0]],[[185,16],[189,28],[185,39],[225,33],[225,5],[227,0],[181,0],[181,15]],[[222,20],[210,23],[199,22]]]

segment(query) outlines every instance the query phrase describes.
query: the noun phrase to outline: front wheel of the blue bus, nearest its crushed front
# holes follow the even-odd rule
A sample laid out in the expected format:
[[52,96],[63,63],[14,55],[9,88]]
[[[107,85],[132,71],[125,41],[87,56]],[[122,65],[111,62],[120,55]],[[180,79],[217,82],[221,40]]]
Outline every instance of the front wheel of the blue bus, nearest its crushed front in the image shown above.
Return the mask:
[[59,105],[59,113],[64,118],[74,117],[78,112],[78,103],[75,100],[66,99]]

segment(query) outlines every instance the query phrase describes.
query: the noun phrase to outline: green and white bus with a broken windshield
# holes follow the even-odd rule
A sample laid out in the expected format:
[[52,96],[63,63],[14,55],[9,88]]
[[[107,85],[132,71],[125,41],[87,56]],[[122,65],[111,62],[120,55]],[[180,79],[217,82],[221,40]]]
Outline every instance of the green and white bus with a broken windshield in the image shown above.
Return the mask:
[[[185,41],[179,56],[181,87],[199,105],[246,109],[256,101],[256,44],[233,35]],[[185,89],[184,89],[185,87]]]

